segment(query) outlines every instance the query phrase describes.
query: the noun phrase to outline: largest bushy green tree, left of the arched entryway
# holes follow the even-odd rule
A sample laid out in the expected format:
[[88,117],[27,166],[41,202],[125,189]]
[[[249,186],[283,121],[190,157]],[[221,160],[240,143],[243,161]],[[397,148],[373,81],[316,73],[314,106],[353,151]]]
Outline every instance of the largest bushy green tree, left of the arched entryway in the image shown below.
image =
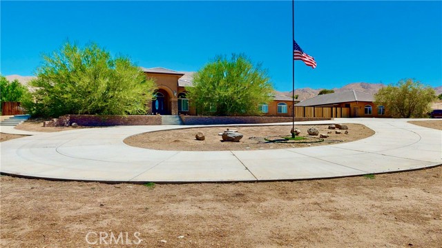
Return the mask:
[[84,48],[65,43],[44,56],[37,68],[35,112],[63,114],[145,114],[155,83],[124,56],[92,43]]

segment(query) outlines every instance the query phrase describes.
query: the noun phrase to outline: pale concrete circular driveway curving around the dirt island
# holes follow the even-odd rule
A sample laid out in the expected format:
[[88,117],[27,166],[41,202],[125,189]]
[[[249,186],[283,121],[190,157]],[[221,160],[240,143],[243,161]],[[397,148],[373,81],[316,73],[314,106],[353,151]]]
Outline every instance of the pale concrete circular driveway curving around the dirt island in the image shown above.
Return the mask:
[[133,134],[183,126],[45,133],[0,143],[0,171],[36,178],[176,183],[331,178],[440,165],[442,131],[407,121],[341,118],[302,122],[297,125],[361,123],[376,134],[337,145],[231,152],[162,151],[123,143]]

